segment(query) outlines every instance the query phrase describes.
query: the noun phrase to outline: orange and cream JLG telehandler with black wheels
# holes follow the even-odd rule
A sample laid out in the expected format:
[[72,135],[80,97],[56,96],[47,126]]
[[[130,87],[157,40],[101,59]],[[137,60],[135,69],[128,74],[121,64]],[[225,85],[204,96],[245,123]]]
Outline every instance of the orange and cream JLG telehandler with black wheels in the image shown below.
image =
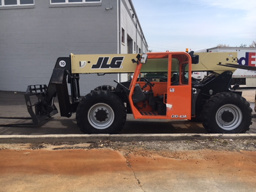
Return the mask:
[[[135,119],[200,120],[211,133],[246,132],[252,109],[242,93],[230,87],[232,70],[220,63],[236,64],[237,53],[70,54],[58,58],[48,86],[28,86],[26,106],[33,124],[39,124],[58,113],[58,97],[61,116],[76,113],[80,130],[89,134],[117,134],[128,113]],[[198,81],[191,77],[193,70],[211,73]],[[93,73],[132,73],[132,78],[115,81],[116,87],[98,86],[81,98],[79,74]]]

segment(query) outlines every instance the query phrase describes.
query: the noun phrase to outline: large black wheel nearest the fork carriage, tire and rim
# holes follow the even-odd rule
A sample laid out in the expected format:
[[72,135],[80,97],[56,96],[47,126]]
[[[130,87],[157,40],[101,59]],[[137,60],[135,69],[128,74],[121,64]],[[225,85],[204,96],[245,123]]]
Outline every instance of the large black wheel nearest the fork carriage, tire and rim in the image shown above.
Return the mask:
[[77,106],[76,120],[84,133],[116,134],[126,121],[124,103],[114,93],[92,91]]

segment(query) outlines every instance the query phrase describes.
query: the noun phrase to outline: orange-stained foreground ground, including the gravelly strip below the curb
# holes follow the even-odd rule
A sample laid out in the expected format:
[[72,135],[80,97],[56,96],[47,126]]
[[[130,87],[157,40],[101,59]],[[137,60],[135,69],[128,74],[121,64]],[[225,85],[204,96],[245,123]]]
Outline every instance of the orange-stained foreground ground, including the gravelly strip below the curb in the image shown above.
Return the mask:
[[256,140],[0,144],[0,191],[255,191]]

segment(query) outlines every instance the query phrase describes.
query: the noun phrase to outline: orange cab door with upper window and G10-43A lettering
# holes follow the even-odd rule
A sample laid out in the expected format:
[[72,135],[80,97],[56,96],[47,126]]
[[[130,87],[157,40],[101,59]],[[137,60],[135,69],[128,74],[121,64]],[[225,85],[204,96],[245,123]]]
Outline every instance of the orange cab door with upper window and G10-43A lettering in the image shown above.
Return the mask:
[[168,58],[166,116],[173,120],[191,119],[191,57],[177,52]]

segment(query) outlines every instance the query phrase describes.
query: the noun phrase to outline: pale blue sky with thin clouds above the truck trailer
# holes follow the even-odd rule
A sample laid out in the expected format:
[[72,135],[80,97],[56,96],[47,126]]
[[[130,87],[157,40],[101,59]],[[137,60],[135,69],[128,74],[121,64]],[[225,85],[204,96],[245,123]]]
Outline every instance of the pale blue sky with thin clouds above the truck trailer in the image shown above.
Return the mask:
[[193,51],[256,40],[255,0],[132,0],[148,50]]

